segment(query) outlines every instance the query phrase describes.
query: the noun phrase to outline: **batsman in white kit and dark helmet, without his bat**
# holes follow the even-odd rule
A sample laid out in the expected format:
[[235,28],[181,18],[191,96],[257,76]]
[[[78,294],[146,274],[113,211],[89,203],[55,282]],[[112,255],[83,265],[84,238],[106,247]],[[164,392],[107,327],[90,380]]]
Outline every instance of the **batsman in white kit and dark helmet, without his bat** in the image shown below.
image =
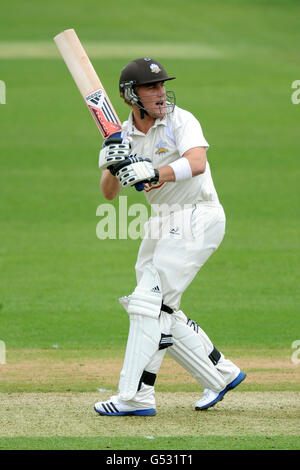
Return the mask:
[[154,384],[166,352],[203,387],[196,410],[214,406],[246,377],[180,310],[182,294],[222,242],[226,219],[201,125],[165,90],[174,78],[149,57],[123,68],[120,94],[131,111],[122,138],[108,138],[99,155],[105,198],[139,183],[155,208],[138,252],[136,287],[120,299],[130,326],[118,394],[94,405],[100,415],[155,415]]

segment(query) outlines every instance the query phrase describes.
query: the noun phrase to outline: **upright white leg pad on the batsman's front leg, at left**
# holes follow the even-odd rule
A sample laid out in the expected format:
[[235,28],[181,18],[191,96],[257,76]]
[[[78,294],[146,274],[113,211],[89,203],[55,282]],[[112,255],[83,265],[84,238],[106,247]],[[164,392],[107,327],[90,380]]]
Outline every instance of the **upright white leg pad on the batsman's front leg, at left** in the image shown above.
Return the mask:
[[161,339],[160,308],[162,303],[159,275],[153,265],[144,274],[131,296],[122,297],[130,318],[125,358],[119,381],[119,396],[131,400],[137,393],[146,365],[158,351]]

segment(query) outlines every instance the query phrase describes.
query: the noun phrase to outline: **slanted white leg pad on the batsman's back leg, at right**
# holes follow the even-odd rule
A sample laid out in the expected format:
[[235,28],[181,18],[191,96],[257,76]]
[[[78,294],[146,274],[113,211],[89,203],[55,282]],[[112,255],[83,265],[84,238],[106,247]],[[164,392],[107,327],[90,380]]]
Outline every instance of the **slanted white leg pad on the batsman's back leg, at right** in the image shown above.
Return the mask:
[[181,310],[174,312],[171,316],[173,346],[168,348],[168,354],[204,388],[215,392],[223,390],[227,383],[208,357],[214,348],[211,340],[201,328],[195,332],[188,326],[187,317]]

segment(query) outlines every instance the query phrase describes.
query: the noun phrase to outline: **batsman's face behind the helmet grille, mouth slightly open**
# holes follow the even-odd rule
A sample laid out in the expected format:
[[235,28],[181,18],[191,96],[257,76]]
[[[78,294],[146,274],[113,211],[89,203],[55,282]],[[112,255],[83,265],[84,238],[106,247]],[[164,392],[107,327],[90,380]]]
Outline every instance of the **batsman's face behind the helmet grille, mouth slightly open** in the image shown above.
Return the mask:
[[148,115],[154,119],[163,118],[166,114],[166,90],[164,82],[141,85],[137,94]]

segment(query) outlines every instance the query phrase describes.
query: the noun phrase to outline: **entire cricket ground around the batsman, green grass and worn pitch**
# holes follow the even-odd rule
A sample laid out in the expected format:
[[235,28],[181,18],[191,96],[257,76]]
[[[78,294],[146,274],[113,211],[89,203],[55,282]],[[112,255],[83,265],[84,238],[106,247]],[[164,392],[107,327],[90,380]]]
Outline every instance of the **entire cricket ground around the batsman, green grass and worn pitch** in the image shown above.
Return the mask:
[[[300,340],[300,105],[291,101],[299,15],[296,0],[1,7],[0,449],[299,449],[300,364],[291,361]],[[155,51],[177,77],[177,104],[198,117],[210,143],[227,233],[181,308],[248,379],[205,417],[192,408],[197,384],[178,369],[172,381],[167,366],[157,395],[169,414],[158,407],[150,424],[119,420],[117,433],[116,421],[94,416],[97,393],[109,396],[97,389],[117,387],[128,331],[118,298],[135,287],[140,240],[96,236],[97,207],[107,202],[102,139],[53,42],[70,27],[121,119],[128,108],[118,96],[120,70]],[[144,202],[126,194],[128,206]],[[43,412],[45,394],[57,406],[53,416]],[[72,410],[74,420],[56,431]]]

